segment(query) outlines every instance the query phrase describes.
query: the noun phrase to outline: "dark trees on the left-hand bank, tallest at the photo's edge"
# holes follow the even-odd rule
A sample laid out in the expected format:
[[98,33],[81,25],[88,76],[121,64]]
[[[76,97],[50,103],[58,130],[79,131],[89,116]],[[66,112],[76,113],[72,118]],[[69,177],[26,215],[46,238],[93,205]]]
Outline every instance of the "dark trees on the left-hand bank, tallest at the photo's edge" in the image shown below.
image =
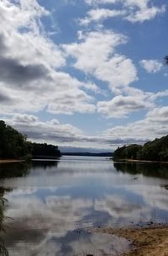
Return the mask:
[[27,136],[0,120],[0,158],[60,157],[57,146],[27,141]]

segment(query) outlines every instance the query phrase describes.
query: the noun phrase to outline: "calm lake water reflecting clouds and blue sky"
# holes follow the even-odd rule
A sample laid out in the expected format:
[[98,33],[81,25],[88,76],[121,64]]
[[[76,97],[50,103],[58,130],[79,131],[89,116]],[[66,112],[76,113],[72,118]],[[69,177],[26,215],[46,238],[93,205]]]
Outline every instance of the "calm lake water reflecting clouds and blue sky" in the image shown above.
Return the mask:
[[10,256],[118,255],[125,239],[90,232],[168,222],[168,165],[61,157],[0,165]]

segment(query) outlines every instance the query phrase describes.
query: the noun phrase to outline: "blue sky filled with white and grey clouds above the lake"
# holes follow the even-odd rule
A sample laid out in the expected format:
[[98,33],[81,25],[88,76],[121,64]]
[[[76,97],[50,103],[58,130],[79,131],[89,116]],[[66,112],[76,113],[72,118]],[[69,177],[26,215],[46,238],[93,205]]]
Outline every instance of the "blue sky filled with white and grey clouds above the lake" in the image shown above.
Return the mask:
[[0,0],[0,119],[113,151],[168,133],[166,0]]

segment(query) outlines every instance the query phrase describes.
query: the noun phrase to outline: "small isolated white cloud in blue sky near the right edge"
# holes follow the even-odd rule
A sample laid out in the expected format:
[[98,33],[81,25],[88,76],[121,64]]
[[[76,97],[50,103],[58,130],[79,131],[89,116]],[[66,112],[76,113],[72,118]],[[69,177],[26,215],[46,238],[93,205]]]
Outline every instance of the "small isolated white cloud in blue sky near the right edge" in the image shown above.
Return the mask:
[[142,60],[139,64],[148,73],[160,72],[161,67],[163,67],[163,64],[157,60]]

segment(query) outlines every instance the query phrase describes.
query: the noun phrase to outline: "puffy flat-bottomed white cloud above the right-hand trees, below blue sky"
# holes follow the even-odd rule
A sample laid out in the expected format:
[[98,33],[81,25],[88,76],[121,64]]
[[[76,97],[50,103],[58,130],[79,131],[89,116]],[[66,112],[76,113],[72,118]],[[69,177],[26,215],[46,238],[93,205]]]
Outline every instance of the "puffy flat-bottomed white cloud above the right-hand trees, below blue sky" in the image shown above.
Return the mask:
[[[130,113],[139,110],[156,109],[156,100],[168,96],[168,90],[158,93],[144,92],[138,88],[125,87],[122,89],[123,95],[117,95],[109,101],[97,102],[98,113],[107,118],[129,117]],[[119,93],[117,90],[116,93]],[[158,109],[165,109],[160,107]],[[150,112],[149,112],[150,113]],[[165,134],[165,133],[164,133]]]

